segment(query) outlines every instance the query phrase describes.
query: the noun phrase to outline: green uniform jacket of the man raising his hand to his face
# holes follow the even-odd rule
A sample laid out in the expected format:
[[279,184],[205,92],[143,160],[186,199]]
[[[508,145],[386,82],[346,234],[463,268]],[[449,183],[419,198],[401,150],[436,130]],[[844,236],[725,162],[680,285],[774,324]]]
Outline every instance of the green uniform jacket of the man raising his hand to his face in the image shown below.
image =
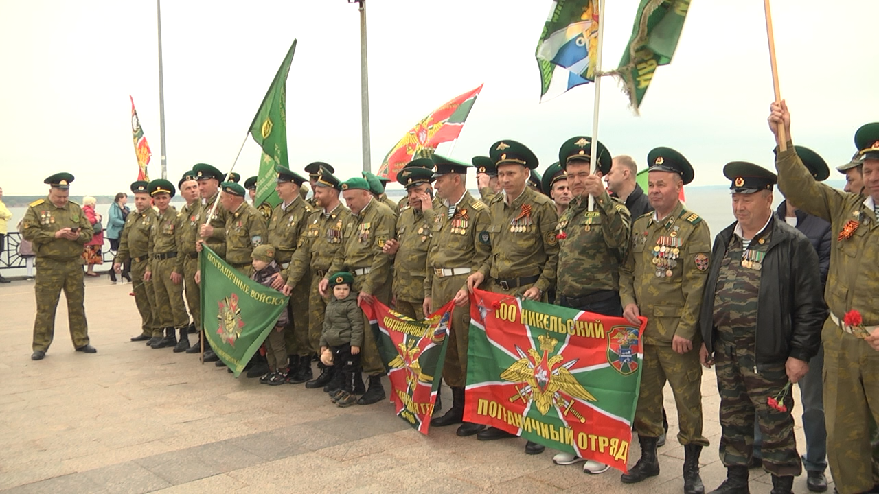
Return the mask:
[[394,258],[394,295],[397,300],[425,300],[427,250],[431,245],[431,222],[414,207],[404,207],[396,219],[400,248]]

